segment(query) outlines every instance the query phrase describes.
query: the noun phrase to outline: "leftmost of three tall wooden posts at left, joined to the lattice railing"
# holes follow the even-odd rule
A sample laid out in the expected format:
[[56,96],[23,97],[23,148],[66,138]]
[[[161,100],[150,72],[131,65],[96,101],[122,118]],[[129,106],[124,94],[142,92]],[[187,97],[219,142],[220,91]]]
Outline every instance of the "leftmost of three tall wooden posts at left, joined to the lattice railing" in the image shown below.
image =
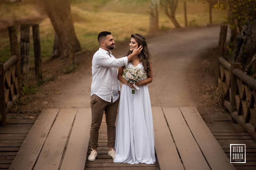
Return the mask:
[[21,58],[19,56],[17,31],[14,26],[8,27],[8,31],[9,31],[9,38],[10,38],[11,56],[13,55],[18,56],[18,61],[15,64],[15,68],[16,68],[16,74],[18,77],[18,91],[22,92]]

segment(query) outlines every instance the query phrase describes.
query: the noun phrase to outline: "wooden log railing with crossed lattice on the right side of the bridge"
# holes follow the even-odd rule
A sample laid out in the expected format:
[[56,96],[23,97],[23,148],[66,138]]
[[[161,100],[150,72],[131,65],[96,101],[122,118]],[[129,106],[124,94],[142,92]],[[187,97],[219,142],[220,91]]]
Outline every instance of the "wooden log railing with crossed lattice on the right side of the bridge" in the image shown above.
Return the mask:
[[223,105],[232,121],[243,126],[256,139],[256,80],[241,71],[241,63],[229,63],[218,58],[218,86],[224,88]]

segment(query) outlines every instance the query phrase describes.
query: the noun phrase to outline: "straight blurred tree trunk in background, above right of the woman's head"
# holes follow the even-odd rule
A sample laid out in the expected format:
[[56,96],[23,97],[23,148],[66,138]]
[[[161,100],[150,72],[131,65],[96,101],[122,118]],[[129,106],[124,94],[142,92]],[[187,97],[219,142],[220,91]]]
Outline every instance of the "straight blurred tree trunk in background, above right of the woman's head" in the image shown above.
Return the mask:
[[151,0],[150,6],[150,17],[149,17],[149,31],[158,31],[158,11],[159,11],[159,0]]

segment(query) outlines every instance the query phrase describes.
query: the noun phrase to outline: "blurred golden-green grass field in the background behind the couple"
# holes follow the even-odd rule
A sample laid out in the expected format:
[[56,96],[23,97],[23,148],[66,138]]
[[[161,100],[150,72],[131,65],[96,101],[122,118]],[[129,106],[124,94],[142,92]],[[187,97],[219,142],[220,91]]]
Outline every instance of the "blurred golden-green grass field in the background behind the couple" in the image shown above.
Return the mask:
[[[33,7],[34,6],[34,7]],[[27,8],[28,7],[28,8]],[[33,8],[32,8],[33,7]],[[97,36],[101,31],[110,31],[116,42],[129,40],[131,33],[149,33],[149,0],[73,0],[71,14],[74,20],[75,31],[82,49],[94,51],[98,48]],[[33,17],[37,11],[36,3],[14,3],[2,9],[0,19],[12,19],[19,17]],[[13,10],[14,9],[14,10]],[[8,13],[8,11],[11,11]],[[187,0],[187,18],[192,27],[202,26],[209,23],[209,5],[202,1]],[[176,18],[184,27],[183,2],[178,5]],[[226,11],[213,9],[213,24],[221,23],[227,15]],[[159,29],[174,28],[174,25],[164,14],[163,9],[159,12]],[[8,32],[2,32],[0,39],[0,62],[6,62],[10,57],[10,44]],[[18,31],[18,41],[20,32]],[[32,32],[30,33],[32,37]],[[40,39],[42,60],[50,58],[53,42],[54,29],[49,18],[40,23]],[[128,41],[127,41],[128,43]],[[33,40],[30,39],[30,63],[34,63]]]

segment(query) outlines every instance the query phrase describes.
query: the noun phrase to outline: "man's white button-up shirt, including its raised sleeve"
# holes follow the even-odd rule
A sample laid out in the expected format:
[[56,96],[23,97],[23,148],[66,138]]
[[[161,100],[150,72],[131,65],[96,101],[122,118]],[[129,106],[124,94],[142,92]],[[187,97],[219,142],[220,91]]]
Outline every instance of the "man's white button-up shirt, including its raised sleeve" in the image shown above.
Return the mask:
[[112,53],[102,48],[93,55],[91,73],[91,95],[95,94],[105,101],[113,102],[119,97],[119,80],[117,68],[127,66],[128,58],[115,58]]

